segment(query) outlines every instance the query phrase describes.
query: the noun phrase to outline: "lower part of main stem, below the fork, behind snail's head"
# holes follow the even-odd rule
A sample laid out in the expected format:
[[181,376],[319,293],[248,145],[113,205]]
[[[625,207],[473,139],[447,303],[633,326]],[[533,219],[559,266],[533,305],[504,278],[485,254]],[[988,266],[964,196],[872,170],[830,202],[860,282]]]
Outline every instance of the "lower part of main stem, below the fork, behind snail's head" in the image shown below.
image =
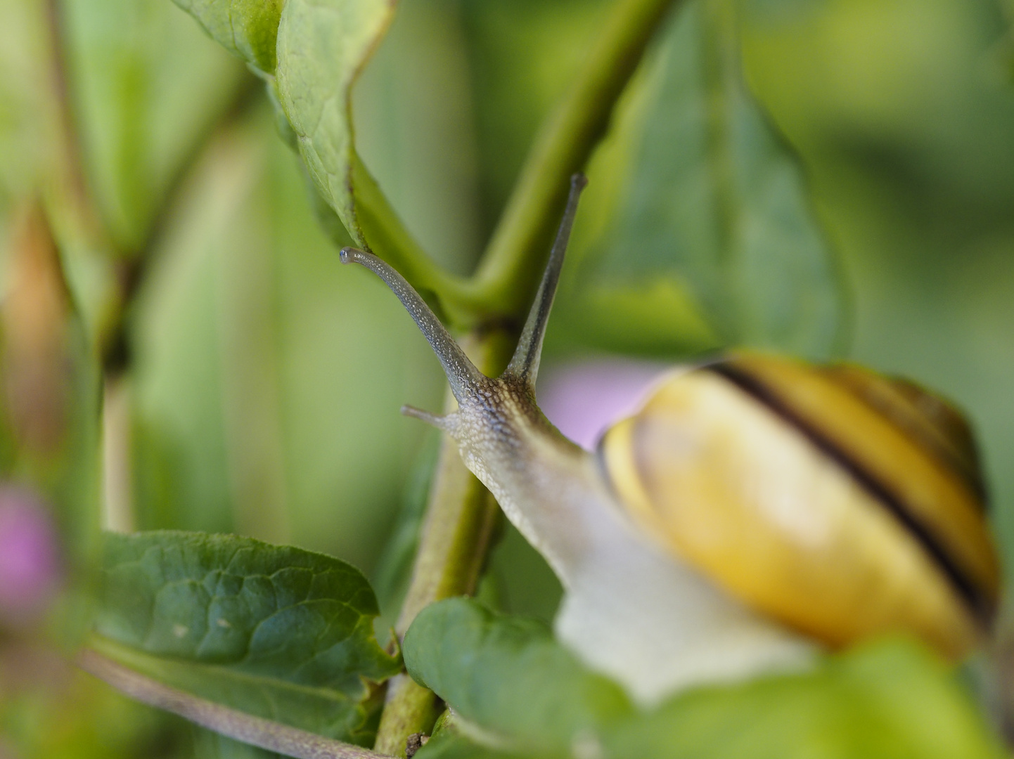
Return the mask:
[[[479,369],[496,376],[507,365],[515,337],[496,330],[469,335],[461,344]],[[453,408],[453,397],[449,396],[447,410]],[[399,637],[424,607],[475,591],[498,514],[489,490],[465,468],[457,444],[444,436],[412,583],[395,625]],[[393,678],[388,685],[374,750],[404,756],[409,736],[428,733],[433,727],[436,705],[432,691],[417,685],[408,675]]]

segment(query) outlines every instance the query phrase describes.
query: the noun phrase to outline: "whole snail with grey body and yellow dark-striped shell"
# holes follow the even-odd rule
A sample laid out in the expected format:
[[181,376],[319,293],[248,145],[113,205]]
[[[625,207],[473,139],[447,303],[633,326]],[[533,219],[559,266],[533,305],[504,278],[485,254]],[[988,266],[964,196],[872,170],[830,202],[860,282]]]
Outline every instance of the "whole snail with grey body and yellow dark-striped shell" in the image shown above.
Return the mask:
[[482,374],[412,287],[355,248],[443,366],[457,410],[406,407],[542,554],[558,637],[641,703],[807,667],[877,634],[958,659],[986,636],[999,563],[961,415],[919,386],[762,353],[675,368],[589,453],[538,409],[535,378],[577,174],[517,350]]

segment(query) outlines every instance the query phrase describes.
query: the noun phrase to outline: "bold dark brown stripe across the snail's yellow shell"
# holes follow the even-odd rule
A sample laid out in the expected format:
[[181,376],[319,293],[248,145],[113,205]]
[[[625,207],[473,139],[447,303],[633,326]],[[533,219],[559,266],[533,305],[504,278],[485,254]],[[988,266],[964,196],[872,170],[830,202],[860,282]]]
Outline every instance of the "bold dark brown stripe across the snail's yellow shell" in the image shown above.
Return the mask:
[[936,565],[950,581],[957,595],[970,609],[972,615],[988,629],[996,611],[993,600],[975,585],[965,572],[951,559],[946,548],[925,525],[913,515],[904,502],[873,473],[839,448],[820,430],[791,408],[777,392],[755,377],[728,363],[710,364],[704,369],[728,380],[750,397],[763,403],[780,418],[791,424],[803,437],[849,472],[852,477],[901,523],[908,532],[932,556]]

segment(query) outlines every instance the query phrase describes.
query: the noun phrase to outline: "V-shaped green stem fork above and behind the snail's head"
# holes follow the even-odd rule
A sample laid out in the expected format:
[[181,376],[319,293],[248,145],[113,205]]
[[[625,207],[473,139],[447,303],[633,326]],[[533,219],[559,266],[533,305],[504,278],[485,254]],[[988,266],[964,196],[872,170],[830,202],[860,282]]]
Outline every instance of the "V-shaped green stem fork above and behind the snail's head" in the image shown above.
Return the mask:
[[544,124],[476,274],[444,271],[412,237],[373,177],[353,164],[357,213],[374,252],[420,292],[430,292],[462,330],[515,321],[534,295],[569,179],[584,168],[612,108],[669,7],[678,0],[618,0],[574,85]]

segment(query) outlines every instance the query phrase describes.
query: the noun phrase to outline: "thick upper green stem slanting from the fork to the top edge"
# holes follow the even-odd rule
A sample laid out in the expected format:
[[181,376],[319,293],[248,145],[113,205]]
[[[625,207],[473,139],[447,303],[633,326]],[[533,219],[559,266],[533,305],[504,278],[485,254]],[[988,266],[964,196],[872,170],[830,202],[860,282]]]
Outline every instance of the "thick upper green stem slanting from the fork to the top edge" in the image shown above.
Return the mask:
[[469,283],[470,297],[486,309],[516,318],[531,301],[568,179],[591,157],[653,32],[676,1],[619,0],[604,19],[577,81],[538,133]]

